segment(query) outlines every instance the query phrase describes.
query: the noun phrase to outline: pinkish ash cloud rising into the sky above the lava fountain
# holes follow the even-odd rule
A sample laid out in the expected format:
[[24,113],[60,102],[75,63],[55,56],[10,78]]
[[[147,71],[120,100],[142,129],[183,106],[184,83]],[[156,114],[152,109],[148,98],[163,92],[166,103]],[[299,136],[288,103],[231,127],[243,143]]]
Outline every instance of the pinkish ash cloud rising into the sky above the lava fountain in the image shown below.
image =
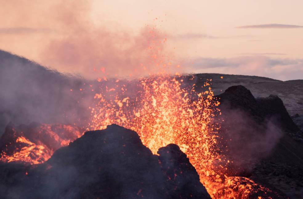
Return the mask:
[[[77,4],[73,6],[73,4]],[[140,77],[154,73],[156,64],[168,64],[164,49],[165,35],[152,26],[138,34],[104,24],[95,25],[90,18],[90,3],[62,3],[56,7],[54,23],[63,37],[50,40],[41,53],[48,66],[77,71],[85,77]]]

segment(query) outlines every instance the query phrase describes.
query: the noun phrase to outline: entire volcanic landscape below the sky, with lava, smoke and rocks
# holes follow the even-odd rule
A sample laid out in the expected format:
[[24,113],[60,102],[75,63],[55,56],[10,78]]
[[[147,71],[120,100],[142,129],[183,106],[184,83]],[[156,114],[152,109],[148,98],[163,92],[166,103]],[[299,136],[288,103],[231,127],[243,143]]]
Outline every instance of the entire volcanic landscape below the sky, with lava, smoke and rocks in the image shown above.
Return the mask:
[[0,61],[3,198],[303,195],[301,80],[91,81],[4,51]]

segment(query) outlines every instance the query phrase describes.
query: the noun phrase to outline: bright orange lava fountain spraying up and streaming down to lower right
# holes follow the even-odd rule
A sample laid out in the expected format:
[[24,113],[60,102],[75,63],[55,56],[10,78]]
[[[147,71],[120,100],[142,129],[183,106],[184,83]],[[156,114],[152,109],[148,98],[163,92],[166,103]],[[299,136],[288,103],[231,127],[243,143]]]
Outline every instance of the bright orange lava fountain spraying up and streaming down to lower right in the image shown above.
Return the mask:
[[225,174],[229,160],[218,149],[220,121],[215,119],[221,114],[220,103],[214,99],[211,79],[200,93],[193,84],[186,87],[184,81],[190,80],[180,75],[142,78],[133,95],[126,94],[127,87],[117,82],[112,84],[114,92],[109,87],[101,88],[95,95],[97,104],[91,108],[90,128],[105,129],[109,124],[118,124],[132,129],[154,154],[161,147],[177,144],[213,198],[271,193],[248,178]]

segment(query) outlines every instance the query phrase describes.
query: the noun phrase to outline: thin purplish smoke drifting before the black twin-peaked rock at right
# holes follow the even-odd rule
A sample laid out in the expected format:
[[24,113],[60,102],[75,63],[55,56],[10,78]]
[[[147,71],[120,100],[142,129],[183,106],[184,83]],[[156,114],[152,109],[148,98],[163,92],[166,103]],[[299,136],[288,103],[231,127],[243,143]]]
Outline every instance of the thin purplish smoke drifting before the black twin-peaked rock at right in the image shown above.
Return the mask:
[[231,173],[246,175],[267,157],[283,136],[274,117],[259,123],[240,109],[222,109],[224,121],[219,135],[223,153],[232,162]]

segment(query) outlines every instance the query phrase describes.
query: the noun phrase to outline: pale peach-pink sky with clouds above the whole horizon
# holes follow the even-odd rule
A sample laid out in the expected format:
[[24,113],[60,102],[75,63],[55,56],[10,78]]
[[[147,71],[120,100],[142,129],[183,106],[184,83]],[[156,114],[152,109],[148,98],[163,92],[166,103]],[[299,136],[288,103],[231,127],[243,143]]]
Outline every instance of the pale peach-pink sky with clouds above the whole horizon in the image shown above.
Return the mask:
[[61,72],[139,74],[148,43],[167,38],[158,57],[185,72],[303,79],[300,0],[0,3],[0,49]]

